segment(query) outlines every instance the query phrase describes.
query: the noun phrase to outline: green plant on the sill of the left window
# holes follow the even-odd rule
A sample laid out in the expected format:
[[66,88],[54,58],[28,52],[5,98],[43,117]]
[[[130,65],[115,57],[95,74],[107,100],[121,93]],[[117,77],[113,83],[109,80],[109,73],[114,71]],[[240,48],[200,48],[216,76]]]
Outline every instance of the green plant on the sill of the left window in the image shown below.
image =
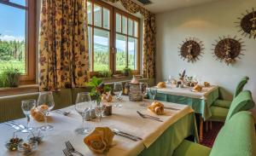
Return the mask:
[[20,83],[19,69],[9,66],[0,73],[0,87],[17,87]]

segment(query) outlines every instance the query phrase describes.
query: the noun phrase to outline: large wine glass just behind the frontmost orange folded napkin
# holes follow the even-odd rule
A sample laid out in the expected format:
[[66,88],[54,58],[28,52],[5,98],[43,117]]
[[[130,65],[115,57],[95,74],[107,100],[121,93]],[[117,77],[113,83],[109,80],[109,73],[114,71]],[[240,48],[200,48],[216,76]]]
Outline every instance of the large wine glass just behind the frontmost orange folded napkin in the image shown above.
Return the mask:
[[79,135],[88,134],[92,130],[90,127],[85,127],[84,125],[85,115],[90,113],[91,107],[92,106],[91,106],[90,93],[87,93],[87,92],[79,93],[77,95],[76,104],[75,104],[75,110],[82,116],[82,119],[83,119],[83,127],[75,130],[75,132],[78,133]]

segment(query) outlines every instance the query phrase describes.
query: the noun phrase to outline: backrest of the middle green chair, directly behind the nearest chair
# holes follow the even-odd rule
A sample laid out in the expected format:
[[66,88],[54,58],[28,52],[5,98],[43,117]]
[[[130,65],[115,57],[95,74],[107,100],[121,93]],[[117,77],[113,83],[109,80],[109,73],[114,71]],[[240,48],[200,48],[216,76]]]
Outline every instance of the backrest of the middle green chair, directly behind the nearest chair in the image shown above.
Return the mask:
[[234,114],[240,111],[247,111],[254,107],[252,93],[249,90],[241,91],[239,95],[231,102],[230,110],[227,115],[226,121],[229,120]]

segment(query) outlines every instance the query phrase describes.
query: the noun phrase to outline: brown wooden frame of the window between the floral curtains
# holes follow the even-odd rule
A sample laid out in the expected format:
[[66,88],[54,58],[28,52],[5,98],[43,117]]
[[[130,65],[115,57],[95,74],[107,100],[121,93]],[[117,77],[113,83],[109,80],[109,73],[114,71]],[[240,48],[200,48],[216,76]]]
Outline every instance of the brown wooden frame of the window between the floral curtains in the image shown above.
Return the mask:
[[[93,37],[94,35],[94,28],[109,31],[109,71],[113,72],[113,74],[119,74],[122,71],[116,71],[116,46],[115,46],[115,38],[116,38],[116,18],[115,18],[115,13],[118,12],[119,14],[125,15],[127,17],[127,39],[128,37],[131,37],[131,35],[128,34],[128,19],[130,18],[131,20],[136,20],[137,21],[137,66],[136,70],[132,70],[133,74],[140,74],[140,19],[137,18],[136,16],[132,14],[128,14],[125,11],[118,9],[116,7],[113,7],[112,5],[108,3],[104,3],[100,0],[89,0],[88,2],[91,3],[91,23],[88,23],[88,27],[91,27],[91,36]],[[103,22],[102,22],[102,27],[99,26],[94,26],[94,5],[97,4],[101,6],[102,8],[109,9],[109,30],[106,28],[103,28]],[[103,10],[103,9],[102,9]],[[103,16],[103,15],[102,15]],[[133,24],[133,27],[135,25]],[[120,34],[120,33],[119,33]],[[125,34],[124,34],[125,35]],[[126,37],[126,36],[125,36]],[[135,37],[131,37],[135,38]],[[126,45],[128,47],[128,44]],[[90,76],[95,76],[97,75],[100,71],[92,71],[93,66],[94,66],[94,55],[93,55],[93,50],[94,50],[94,41],[93,38],[91,38],[91,64],[90,64]],[[128,57],[126,58],[128,60]]]

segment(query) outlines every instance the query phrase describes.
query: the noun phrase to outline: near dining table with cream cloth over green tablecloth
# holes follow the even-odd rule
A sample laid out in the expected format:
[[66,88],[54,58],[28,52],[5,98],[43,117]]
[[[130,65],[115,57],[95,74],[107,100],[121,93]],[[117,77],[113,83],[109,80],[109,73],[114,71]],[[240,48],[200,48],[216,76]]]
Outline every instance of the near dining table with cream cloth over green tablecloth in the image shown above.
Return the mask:
[[[113,100],[109,103],[113,106],[112,115],[86,121],[85,125],[91,128],[108,127],[111,130],[117,129],[125,131],[133,136],[139,136],[142,140],[132,141],[123,136],[114,136],[113,143],[105,153],[93,153],[84,144],[84,137],[75,133],[78,127],[82,126],[82,118],[75,111],[74,106],[61,108],[63,112],[71,112],[63,115],[59,111],[49,112],[48,124],[54,126],[53,130],[42,131],[43,142],[38,144],[38,150],[30,155],[49,156],[64,155],[65,142],[69,141],[73,147],[86,156],[90,155],[172,155],[175,148],[188,136],[194,136],[198,142],[197,128],[194,110],[185,105],[160,101],[166,108],[163,115],[156,115],[145,107],[152,100],[129,101],[128,96],[123,96],[121,101]],[[121,104],[117,105],[117,104]],[[118,107],[115,107],[118,106]],[[160,118],[162,122],[141,118],[137,111]],[[13,120],[17,125],[26,125],[26,118]],[[44,122],[31,119],[32,127],[40,127]],[[6,123],[0,124],[0,155],[15,156],[20,155],[19,151],[9,151],[4,145],[13,136],[18,136],[26,141],[29,133],[21,133]]]

